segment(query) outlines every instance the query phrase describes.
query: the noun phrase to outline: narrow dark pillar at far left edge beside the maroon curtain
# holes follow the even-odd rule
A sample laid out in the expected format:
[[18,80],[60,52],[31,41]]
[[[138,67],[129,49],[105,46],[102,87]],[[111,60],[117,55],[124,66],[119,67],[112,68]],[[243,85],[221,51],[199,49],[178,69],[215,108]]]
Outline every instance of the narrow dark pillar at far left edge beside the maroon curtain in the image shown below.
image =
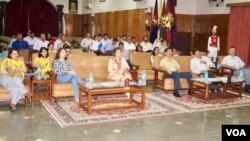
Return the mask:
[[5,35],[6,30],[6,8],[7,8],[7,1],[0,2],[0,15],[1,15],[1,35]]

